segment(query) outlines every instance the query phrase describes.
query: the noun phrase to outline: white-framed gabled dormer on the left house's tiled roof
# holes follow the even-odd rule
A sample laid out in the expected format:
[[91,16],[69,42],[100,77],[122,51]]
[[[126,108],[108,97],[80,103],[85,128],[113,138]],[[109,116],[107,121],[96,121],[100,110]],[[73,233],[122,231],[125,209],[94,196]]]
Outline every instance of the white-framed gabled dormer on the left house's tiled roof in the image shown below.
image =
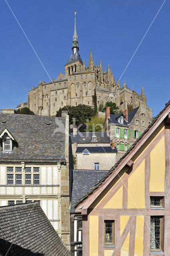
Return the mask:
[[5,130],[0,134],[0,139],[2,139],[2,150],[12,151],[12,141],[15,141],[12,134],[5,128]]

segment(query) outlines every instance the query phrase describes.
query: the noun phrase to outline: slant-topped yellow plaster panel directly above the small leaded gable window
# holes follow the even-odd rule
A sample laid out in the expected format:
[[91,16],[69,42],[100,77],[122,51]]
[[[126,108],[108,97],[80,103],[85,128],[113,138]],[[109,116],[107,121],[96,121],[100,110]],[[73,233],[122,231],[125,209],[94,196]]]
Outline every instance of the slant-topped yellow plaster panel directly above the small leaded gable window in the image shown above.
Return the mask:
[[164,137],[150,152],[150,192],[164,192],[165,146]]

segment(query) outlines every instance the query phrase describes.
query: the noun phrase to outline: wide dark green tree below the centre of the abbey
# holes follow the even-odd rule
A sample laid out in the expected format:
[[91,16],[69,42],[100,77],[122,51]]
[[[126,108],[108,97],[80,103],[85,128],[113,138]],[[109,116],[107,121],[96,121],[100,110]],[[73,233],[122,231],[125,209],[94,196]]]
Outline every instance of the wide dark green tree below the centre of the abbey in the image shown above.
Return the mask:
[[56,116],[61,116],[62,111],[68,111],[70,124],[74,124],[73,118],[75,118],[75,125],[85,124],[88,120],[91,120],[95,116],[95,110],[91,106],[78,105],[78,106],[64,106],[56,112]]

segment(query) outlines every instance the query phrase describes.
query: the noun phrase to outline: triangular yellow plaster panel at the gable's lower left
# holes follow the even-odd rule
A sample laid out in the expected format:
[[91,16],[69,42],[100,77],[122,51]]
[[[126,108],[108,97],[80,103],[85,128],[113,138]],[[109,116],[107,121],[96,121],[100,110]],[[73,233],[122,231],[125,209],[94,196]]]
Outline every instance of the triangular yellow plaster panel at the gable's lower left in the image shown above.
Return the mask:
[[122,208],[122,198],[123,198],[123,186],[119,188],[119,190],[114,194],[114,196],[107,202],[107,204],[103,208],[110,208],[110,209]]

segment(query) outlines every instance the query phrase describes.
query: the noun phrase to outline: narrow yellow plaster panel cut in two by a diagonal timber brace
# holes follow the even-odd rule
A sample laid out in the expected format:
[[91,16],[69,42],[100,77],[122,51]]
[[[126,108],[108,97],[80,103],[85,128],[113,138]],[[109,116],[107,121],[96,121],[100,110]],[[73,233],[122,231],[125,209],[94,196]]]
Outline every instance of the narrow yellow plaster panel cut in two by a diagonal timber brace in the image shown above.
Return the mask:
[[[130,218],[130,216],[120,216],[120,236],[122,235],[122,232],[123,232],[124,228],[126,227],[129,218]],[[130,232],[129,232],[129,234],[130,234]],[[121,256],[128,256],[128,254],[129,254],[129,234],[126,237],[126,240],[124,241],[124,244],[120,251]]]

